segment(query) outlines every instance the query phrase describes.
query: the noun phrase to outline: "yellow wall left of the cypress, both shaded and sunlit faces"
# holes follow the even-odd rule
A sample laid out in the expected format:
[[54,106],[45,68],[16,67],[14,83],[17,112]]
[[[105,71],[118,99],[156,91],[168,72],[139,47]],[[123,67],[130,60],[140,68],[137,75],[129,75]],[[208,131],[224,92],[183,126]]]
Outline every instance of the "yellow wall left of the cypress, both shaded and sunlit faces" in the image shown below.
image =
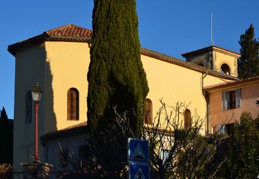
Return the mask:
[[[34,83],[43,91],[39,103],[39,137],[86,121],[86,95],[90,52],[88,43],[45,42],[19,50],[15,62],[15,136],[14,167],[21,171],[20,162],[31,162],[34,154],[35,111],[32,123],[26,124],[26,92]],[[79,120],[67,120],[67,92],[79,91]],[[41,161],[46,149],[39,143]]]

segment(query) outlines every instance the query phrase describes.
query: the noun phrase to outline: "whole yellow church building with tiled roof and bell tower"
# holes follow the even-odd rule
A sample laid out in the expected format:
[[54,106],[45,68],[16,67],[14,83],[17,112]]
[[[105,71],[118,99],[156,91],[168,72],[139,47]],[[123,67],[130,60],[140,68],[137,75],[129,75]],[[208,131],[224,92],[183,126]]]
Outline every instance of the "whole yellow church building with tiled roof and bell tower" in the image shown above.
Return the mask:
[[[55,165],[59,149],[73,149],[77,156],[87,150],[84,130],[91,34],[88,29],[68,24],[8,46],[8,51],[15,56],[15,171],[21,171],[19,163],[30,162],[34,154],[35,114],[30,97],[34,83],[39,83],[44,92],[39,104],[41,162]],[[183,56],[187,61],[141,49],[150,89],[148,120],[160,108],[161,98],[169,105],[178,101],[190,103],[187,112],[193,120],[198,116],[207,118],[209,105],[203,88],[238,80],[240,54],[236,52],[212,46]],[[208,120],[203,134],[209,126]]]

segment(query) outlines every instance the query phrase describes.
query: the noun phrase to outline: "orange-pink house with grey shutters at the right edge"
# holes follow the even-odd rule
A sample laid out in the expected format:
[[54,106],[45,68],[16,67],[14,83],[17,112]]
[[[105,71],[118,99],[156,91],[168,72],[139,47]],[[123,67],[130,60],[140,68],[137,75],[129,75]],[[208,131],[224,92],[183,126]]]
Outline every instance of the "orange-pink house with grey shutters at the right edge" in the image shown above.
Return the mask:
[[233,124],[242,112],[251,112],[253,119],[259,118],[259,76],[239,81],[230,81],[204,87],[209,96],[209,128],[230,134]]

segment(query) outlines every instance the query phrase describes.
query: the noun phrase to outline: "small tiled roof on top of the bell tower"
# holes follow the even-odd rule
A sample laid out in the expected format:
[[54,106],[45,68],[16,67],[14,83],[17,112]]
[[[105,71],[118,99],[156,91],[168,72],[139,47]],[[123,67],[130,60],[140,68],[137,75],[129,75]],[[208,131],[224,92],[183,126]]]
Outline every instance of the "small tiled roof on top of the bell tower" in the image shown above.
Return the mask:
[[204,53],[211,52],[211,51],[222,52],[224,54],[229,54],[229,55],[235,56],[236,58],[240,57],[240,54],[237,53],[237,52],[233,52],[231,50],[220,48],[220,47],[215,46],[215,45],[211,45],[207,48],[202,48],[202,49],[194,50],[194,51],[191,51],[191,52],[186,52],[186,53],[182,54],[182,56],[184,58],[189,58],[190,56],[196,56],[196,55],[204,54]]

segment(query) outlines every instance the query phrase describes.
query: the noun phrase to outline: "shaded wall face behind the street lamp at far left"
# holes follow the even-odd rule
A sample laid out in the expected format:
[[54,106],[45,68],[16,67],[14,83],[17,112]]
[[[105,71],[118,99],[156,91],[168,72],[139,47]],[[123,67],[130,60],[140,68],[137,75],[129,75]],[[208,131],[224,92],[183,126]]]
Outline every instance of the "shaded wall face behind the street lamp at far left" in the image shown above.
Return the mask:
[[[21,177],[20,162],[31,163],[35,154],[35,109],[32,99],[26,98],[34,83],[39,83],[43,92],[38,114],[39,160],[48,162],[47,147],[41,137],[46,131],[57,130],[57,119],[53,108],[52,73],[46,60],[44,43],[21,50],[16,56],[15,66],[15,128],[14,128],[14,171]],[[29,93],[28,93],[29,92]],[[26,96],[27,94],[27,96]],[[28,105],[28,103],[31,105]],[[30,120],[28,120],[30,119]],[[47,129],[47,130],[46,130]]]

